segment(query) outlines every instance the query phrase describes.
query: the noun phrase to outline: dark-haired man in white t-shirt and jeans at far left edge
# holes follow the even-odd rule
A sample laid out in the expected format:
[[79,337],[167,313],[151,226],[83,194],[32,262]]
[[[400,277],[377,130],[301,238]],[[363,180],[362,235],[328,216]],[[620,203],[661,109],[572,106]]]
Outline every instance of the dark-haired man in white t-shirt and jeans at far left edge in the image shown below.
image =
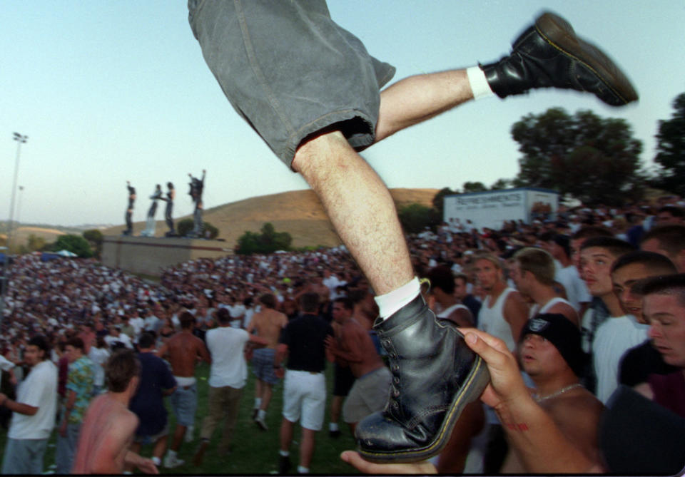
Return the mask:
[[29,339],[24,362],[31,368],[17,386],[16,400],[0,393],[0,406],[14,414],[7,431],[2,473],[43,473],[43,456],[57,414],[57,368],[44,336]]

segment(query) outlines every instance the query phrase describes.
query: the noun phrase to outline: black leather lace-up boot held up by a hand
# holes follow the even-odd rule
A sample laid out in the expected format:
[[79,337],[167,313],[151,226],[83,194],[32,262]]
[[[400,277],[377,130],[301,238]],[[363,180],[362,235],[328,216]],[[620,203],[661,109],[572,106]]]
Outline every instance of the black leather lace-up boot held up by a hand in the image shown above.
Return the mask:
[[485,362],[455,324],[435,318],[420,295],[373,327],[390,359],[392,384],[385,409],[357,424],[359,451],[374,462],[435,456],[462,409],[487,386]]

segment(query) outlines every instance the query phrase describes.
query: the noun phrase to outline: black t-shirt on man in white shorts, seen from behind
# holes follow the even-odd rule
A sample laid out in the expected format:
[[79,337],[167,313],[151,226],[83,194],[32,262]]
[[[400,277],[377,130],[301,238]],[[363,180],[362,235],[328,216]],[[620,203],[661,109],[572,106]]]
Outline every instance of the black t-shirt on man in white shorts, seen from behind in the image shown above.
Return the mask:
[[288,345],[288,369],[320,373],[326,366],[324,340],[333,336],[333,327],[315,314],[290,320],[279,342]]

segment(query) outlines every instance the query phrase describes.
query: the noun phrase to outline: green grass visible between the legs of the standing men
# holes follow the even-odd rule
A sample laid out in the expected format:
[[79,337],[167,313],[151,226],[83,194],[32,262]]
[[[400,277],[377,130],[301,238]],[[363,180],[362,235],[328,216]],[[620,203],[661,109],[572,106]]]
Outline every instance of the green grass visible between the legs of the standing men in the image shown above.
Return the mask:
[[[207,378],[209,374],[209,366],[201,364],[198,366],[198,411],[196,414],[195,431],[193,433],[193,442],[184,442],[181,445],[179,458],[186,461],[183,466],[168,469],[160,467],[160,473],[177,473],[177,474],[191,474],[191,475],[206,475],[206,474],[220,474],[220,475],[248,475],[248,474],[274,474],[278,473],[278,448],[279,448],[279,429],[280,421],[282,419],[281,410],[283,403],[283,384],[280,383],[274,390],[273,399],[269,406],[266,422],[269,430],[262,431],[252,420],[252,406],[254,403],[254,389],[255,378],[251,371],[248,371],[248,382],[243,389],[243,398],[240,401],[240,413],[238,414],[238,423],[235,426],[233,434],[233,450],[228,456],[218,456],[216,453],[216,444],[220,438],[221,426],[218,426],[212,437],[210,447],[205,453],[203,465],[200,467],[193,466],[193,453],[200,441],[200,427],[202,419],[207,414],[207,393],[208,384]],[[338,438],[330,438],[328,436],[328,410],[330,409],[331,395],[330,391],[333,389],[333,366],[327,364],[326,367],[326,382],[328,386],[327,396],[327,410],[326,419],[323,429],[317,434],[316,450],[314,458],[310,466],[312,473],[323,473],[327,475],[335,474],[355,474],[358,473],[355,468],[347,465],[340,460],[340,452],[347,449],[355,448],[355,441],[350,434],[347,426],[341,427],[342,436]],[[169,409],[170,422],[170,442],[171,434],[175,426],[175,419],[171,409]],[[0,446],[4,450],[6,431],[0,433]],[[298,443],[300,440],[300,427],[295,428],[295,436],[293,439],[293,446],[290,448],[290,461],[293,464],[292,472],[297,470],[299,460]],[[56,433],[53,433],[49,441],[48,451],[46,452],[44,466],[46,471],[54,469],[55,461],[55,447]],[[150,457],[152,454],[152,446],[143,446],[141,454]]]

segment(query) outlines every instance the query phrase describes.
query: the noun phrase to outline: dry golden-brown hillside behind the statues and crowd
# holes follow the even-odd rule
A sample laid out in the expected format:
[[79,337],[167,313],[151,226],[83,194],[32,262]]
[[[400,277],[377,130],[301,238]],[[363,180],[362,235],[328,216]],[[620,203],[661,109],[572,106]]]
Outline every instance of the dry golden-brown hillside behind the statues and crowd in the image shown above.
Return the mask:
[[[438,189],[392,189],[390,193],[397,207],[419,203],[430,207]],[[175,217],[174,220],[191,217]],[[311,190],[295,190],[273,195],[230,202],[205,210],[204,220],[219,229],[219,238],[235,245],[238,238],[250,230],[259,232],[266,222],[271,222],[278,232],[288,232],[293,237],[293,247],[340,245],[323,206]],[[103,230],[104,235],[120,235],[124,225]],[[138,235],[145,222],[134,222],[133,234]],[[157,221],[157,237],[166,232],[163,220]]]

